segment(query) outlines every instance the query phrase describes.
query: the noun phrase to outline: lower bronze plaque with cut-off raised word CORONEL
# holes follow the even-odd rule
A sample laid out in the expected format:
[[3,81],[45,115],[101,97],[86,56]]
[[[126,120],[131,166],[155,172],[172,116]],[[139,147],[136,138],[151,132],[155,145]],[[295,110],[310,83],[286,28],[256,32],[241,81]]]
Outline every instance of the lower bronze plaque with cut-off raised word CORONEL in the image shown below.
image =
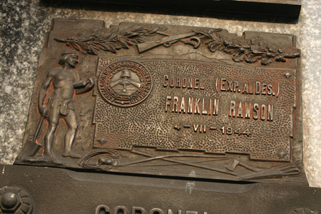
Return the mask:
[[0,169],[0,188],[23,188],[21,193],[32,197],[32,201],[25,201],[33,205],[33,214],[321,213],[320,188],[146,178],[21,165],[0,165]]

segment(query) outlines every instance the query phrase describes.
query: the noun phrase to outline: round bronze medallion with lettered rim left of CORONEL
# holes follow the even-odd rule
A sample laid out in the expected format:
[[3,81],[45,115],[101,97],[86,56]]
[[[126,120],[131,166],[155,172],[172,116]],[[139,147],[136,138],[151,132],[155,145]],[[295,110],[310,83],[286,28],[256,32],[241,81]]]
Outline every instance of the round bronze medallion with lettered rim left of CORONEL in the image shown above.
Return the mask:
[[151,93],[151,73],[136,61],[117,61],[101,71],[98,89],[105,101],[118,107],[136,106]]

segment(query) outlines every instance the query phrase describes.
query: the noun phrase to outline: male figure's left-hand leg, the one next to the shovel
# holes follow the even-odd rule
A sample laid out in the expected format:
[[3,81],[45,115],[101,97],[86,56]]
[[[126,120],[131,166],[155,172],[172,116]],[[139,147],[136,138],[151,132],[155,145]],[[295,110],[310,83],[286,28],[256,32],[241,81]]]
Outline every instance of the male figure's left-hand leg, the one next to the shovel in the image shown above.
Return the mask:
[[55,131],[59,122],[59,111],[55,108],[51,108],[48,116],[48,130],[44,138],[44,158],[49,161],[56,161],[54,153],[52,153],[52,146],[54,144]]

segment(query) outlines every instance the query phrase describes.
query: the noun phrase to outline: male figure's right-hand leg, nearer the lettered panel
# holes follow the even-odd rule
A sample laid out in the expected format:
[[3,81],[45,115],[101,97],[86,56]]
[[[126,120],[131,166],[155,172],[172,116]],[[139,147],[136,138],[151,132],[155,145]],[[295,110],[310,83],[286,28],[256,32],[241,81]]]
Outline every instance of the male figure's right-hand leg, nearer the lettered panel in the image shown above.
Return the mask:
[[63,150],[63,157],[71,158],[81,158],[80,155],[72,151],[73,141],[75,140],[76,131],[78,128],[77,118],[75,111],[69,111],[68,115],[65,117],[65,121],[68,126],[68,130],[65,136],[65,148]]

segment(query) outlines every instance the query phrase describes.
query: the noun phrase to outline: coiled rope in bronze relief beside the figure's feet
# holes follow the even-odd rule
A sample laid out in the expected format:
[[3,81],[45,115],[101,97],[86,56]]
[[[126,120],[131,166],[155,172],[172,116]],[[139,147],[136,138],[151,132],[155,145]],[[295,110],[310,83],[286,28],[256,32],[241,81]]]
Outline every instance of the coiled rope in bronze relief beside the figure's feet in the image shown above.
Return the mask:
[[94,168],[97,170],[109,170],[114,165],[118,165],[117,160],[120,157],[118,151],[113,149],[104,149],[99,151],[91,151],[81,158],[78,165],[82,168]]

